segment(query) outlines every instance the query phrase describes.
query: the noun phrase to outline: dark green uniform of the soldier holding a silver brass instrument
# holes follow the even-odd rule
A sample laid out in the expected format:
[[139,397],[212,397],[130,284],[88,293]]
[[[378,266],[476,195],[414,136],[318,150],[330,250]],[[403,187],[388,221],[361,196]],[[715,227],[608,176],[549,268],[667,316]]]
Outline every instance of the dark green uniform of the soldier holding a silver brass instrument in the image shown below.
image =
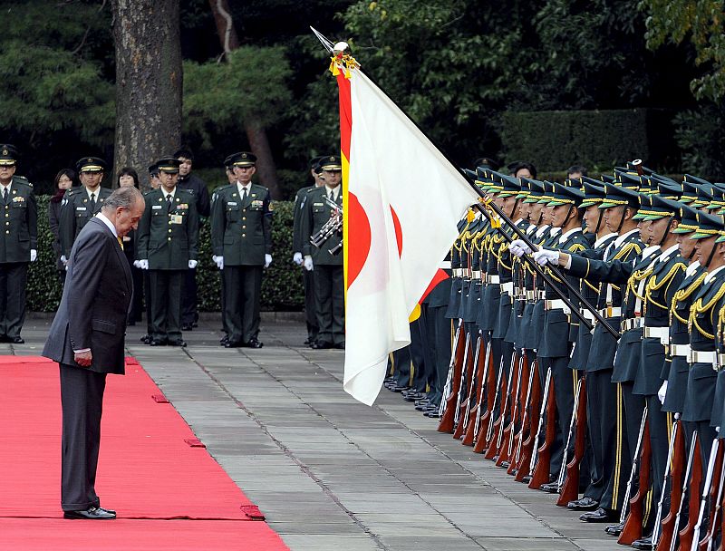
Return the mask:
[[333,209],[327,203],[331,192],[333,195],[337,194],[334,202],[342,207],[342,184],[334,191],[323,186],[307,193],[302,215],[302,254],[312,256],[313,259],[314,299],[317,306],[317,324],[320,328],[316,346],[321,348],[343,347],[345,342],[343,253],[330,253],[330,249],[341,243],[342,234],[334,232],[320,247],[314,247],[310,243],[310,237],[332,216]]

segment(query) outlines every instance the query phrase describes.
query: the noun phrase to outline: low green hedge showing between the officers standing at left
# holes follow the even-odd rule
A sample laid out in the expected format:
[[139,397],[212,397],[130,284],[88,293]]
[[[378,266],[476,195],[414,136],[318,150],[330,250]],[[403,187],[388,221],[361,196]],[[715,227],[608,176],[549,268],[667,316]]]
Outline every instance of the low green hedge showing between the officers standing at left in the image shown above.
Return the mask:
[[[49,196],[38,197],[38,259],[30,265],[27,285],[28,312],[54,312],[58,309],[63,287],[55,270],[53,234],[48,225]],[[275,201],[272,218],[272,265],[262,278],[262,309],[301,310],[304,305],[302,268],[292,263],[291,201]],[[198,308],[204,312],[220,309],[221,280],[211,260],[208,221],[199,232],[199,264],[197,268]]]

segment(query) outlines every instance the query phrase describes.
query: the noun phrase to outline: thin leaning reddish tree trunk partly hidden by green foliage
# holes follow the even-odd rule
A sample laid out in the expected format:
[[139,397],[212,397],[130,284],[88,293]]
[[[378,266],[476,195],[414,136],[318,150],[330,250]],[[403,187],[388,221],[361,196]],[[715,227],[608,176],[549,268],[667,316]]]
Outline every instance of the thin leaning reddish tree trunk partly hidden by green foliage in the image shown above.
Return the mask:
[[[214,21],[217,23],[219,42],[224,53],[227,54],[239,47],[239,37],[234,28],[229,5],[227,0],[209,0],[209,5],[214,14]],[[273,199],[281,199],[282,192],[279,189],[275,160],[272,158],[265,127],[261,122],[250,118],[244,121],[244,130],[247,132],[249,147],[256,155],[256,172],[259,175],[260,183],[269,189]]]

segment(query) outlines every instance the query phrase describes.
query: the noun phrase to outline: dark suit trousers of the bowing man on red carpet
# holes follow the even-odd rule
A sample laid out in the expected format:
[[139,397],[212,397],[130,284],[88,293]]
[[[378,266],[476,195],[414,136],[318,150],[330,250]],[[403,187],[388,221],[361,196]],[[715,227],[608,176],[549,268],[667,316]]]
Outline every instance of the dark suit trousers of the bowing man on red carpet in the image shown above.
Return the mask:
[[64,511],[99,507],[95,482],[106,373],[58,365],[63,409],[61,507]]

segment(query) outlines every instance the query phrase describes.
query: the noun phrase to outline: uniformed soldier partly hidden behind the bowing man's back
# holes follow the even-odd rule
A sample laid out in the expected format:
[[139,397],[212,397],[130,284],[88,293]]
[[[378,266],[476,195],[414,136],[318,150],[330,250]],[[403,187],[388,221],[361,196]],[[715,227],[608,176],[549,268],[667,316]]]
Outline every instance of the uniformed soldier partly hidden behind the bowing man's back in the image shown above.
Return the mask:
[[71,253],[73,243],[88,221],[101,212],[103,201],[111,195],[111,189],[102,188],[104,160],[98,157],[83,157],[75,164],[82,186],[69,189],[63,198],[58,233],[61,238],[61,260]]

